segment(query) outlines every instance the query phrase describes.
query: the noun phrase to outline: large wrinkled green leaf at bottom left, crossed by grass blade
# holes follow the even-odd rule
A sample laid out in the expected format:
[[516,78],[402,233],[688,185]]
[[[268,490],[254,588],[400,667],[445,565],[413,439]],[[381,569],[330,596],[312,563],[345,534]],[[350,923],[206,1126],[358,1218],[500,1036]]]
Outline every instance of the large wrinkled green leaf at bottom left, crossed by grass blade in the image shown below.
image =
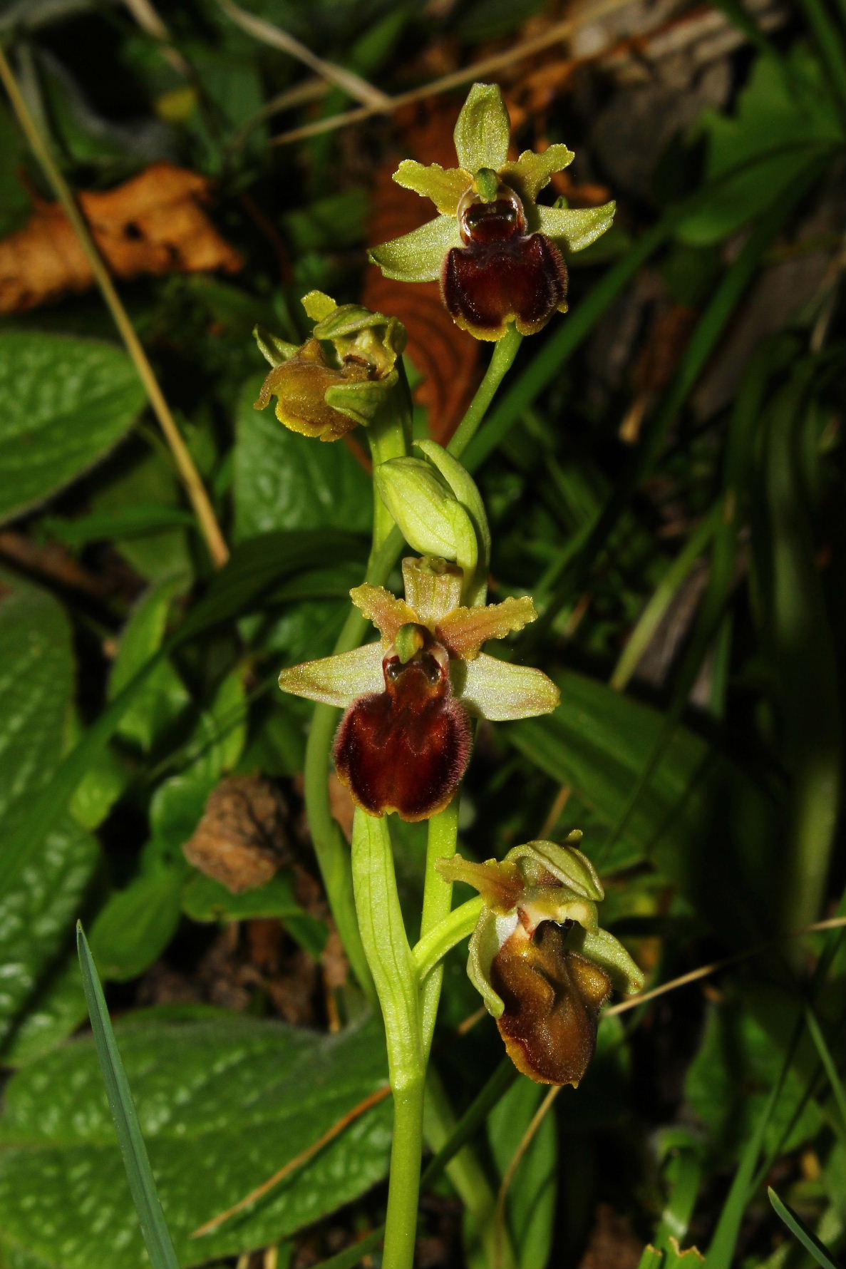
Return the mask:
[[[384,1082],[381,1027],[325,1037],[240,1015],[179,1024],[141,1014],[117,1039],[183,1269],[285,1237],[384,1176],[388,1103],[255,1207],[192,1240]],[[120,1269],[147,1265],[89,1037],[8,1086],[0,1228],[56,1269],[115,1269],[115,1253]]]

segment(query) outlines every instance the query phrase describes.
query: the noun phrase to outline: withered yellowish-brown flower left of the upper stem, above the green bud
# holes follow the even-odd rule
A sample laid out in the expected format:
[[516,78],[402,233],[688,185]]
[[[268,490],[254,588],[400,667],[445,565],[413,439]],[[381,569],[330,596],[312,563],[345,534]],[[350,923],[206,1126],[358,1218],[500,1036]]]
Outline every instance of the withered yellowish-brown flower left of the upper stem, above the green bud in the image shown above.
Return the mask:
[[360,305],[339,306],[322,291],[309,291],[302,303],[315,322],[302,348],[255,329],[273,367],[255,407],[264,410],[275,396],[277,418],[292,431],[337,440],[356,424],[367,426],[396,387],[405,326]]

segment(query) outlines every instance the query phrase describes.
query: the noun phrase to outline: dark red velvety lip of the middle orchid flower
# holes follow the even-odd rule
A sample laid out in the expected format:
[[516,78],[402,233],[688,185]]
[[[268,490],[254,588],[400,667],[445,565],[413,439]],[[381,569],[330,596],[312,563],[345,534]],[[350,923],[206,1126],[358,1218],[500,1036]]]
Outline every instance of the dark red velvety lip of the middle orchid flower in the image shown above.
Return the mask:
[[355,700],[335,739],[335,766],[370,815],[427,820],[452,798],[471,755],[471,726],[453,698],[445,654],[383,661],[384,692]]

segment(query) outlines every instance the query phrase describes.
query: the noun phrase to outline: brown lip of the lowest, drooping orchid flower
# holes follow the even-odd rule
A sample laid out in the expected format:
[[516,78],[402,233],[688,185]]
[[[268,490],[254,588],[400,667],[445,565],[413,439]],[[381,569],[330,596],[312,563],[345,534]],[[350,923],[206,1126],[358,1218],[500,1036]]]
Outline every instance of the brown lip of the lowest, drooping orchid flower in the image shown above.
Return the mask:
[[538,1084],[578,1084],[596,1047],[596,1025],[611,982],[577,952],[566,931],[544,921],[534,938],[517,926],[491,966],[505,1004],[497,1019],[509,1057]]

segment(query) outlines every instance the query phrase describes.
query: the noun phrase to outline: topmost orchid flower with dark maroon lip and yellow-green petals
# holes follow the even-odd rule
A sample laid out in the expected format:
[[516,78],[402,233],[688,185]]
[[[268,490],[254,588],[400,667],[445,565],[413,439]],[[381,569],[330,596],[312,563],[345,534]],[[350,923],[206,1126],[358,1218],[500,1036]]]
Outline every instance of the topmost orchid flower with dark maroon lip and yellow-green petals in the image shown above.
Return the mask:
[[440,213],[384,242],[370,259],[387,278],[440,279],[455,321],[477,339],[502,339],[509,322],[533,335],[567,312],[566,251],[604,233],[614,203],[547,207],[538,194],[573,160],[567,146],[525,150],[509,161],[511,121],[496,84],[474,84],[455,124],[458,168],[403,160],[398,185],[431,198]]

